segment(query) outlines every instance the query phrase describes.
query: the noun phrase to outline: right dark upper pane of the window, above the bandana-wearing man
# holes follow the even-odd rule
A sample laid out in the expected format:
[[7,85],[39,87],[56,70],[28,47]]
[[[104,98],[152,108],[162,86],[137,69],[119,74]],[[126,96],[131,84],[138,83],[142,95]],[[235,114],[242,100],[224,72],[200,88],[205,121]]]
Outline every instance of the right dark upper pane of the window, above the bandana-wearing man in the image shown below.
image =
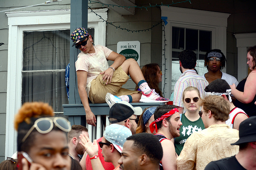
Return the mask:
[[212,32],[199,31],[199,50],[208,51],[212,47]]

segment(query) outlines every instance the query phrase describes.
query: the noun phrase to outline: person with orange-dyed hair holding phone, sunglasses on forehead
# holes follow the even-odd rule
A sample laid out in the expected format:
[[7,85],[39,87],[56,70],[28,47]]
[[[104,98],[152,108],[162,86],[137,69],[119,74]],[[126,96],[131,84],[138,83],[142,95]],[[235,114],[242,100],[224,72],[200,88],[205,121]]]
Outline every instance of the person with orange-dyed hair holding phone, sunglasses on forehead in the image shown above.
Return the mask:
[[[46,103],[25,103],[14,119],[18,131],[18,170],[70,170],[67,132],[70,123],[53,117]],[[24,158],[23,158],[24,157]]]

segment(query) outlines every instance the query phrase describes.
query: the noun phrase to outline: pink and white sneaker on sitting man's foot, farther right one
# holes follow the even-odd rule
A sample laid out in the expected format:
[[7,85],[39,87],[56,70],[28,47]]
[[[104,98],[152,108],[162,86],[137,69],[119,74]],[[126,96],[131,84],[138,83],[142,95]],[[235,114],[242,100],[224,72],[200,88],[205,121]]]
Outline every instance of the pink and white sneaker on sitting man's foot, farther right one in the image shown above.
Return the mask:
[[149,103],[149,102],[169,102],[169,99],[167,98],[162,98],[161,96],[159,96],[159,94],[157,94],[155,92],[155,89],[151,89],[151,92],[149,94],[144,94],[142,92],[142,96],[140,98],[140,102],[145,102],[145,103]]

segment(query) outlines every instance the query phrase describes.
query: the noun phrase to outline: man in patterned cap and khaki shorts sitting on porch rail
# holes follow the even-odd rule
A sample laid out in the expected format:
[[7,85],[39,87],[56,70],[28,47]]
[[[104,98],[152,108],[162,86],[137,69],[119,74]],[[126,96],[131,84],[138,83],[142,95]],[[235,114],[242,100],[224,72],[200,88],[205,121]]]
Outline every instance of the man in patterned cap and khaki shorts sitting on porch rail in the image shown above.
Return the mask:
[[[96,117],[92,113],[88,97],[92,103],[105,103],[107,93],[110,103],[118,100],[127,102],[168,102],[169,99],[162,98],[153,89],[150,89],[140,70],[140,66],[134,59],[127,59],[102,45],[92,45],[92,36],[85,28],[75,29],[70,38],[80,49],[76,61],[76,74],[78,82],[78,92],[86,112],[86,122],[96,126]],[[114,61],[108,66],[107,60]],[[131,91],[121,88],[129,78],[138,84],[139,91]]]

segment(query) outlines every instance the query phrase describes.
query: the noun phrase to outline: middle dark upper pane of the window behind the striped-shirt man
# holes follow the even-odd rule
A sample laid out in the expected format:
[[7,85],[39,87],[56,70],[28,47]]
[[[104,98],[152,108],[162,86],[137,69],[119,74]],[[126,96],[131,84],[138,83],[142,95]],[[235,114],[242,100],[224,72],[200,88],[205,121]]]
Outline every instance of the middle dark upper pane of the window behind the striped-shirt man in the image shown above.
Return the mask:
[[186,29],[186,49],[198,50],[198,30]]

